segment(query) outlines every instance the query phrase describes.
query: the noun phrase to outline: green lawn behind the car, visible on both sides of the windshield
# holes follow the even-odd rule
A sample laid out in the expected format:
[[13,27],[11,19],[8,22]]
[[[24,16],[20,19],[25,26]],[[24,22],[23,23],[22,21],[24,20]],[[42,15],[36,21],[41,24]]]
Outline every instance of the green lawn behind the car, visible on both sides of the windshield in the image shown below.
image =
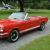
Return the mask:
[[[17,12],[18,10],[0,10],[0,19],[7,18],[11,13]],[[40,9],[32,9],[27,11],[29,16],[44,16],[50,19],[50,10],[40,10]]]

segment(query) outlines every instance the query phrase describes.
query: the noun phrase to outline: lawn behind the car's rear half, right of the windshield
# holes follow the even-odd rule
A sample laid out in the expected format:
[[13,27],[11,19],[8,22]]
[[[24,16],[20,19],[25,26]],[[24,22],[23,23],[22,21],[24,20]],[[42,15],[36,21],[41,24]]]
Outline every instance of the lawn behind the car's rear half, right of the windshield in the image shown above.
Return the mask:
[[50,10],[41,10],[41,9],[32,9],[28,11],[29,16],[43,16],[48,17],[50,19]]

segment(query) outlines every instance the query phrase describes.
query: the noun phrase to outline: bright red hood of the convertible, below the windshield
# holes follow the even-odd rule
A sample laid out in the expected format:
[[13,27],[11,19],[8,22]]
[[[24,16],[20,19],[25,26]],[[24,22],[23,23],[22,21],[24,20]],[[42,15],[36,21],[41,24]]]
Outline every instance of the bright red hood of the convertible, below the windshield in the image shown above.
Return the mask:
[[10,25],[10,24],[19,24],[19,22],[21,22],[20,20],[10,20],[10,19],[3,19],[3,20],[0,20],[0,26],[7,26],[7,25]]

